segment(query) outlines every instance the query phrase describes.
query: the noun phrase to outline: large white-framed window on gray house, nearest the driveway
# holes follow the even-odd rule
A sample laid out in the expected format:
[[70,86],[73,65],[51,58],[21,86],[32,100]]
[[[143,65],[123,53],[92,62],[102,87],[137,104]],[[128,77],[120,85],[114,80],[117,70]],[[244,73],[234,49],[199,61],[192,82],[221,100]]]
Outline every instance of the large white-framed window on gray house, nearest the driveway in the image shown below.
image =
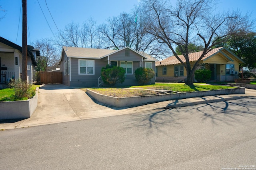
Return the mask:
[[94,60],[78,60],[78,74],[94,75]]

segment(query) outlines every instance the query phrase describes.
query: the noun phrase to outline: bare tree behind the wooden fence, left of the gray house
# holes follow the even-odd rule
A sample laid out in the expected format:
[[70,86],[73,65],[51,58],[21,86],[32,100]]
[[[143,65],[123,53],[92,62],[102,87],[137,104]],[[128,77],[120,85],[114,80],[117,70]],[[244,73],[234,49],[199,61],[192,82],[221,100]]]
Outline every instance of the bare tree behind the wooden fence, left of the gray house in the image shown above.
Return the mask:
[[40,49],[40,56],[37,58],[38,71],[48,71],[49,66],[54,66],[59,61],[58,50],[52,45],[51,39],[40,39],[33,43],[34,48]]

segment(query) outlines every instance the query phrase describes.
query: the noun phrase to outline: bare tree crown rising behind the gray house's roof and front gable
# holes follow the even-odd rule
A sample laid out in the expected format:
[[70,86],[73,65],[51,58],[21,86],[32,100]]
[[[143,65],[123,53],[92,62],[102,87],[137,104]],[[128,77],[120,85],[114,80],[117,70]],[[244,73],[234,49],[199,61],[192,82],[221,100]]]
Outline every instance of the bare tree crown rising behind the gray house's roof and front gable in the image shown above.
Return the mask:
[[[170,53],[157,43],[154,35],[146,28],[146,16],[140,7],[135,7],[130,14],[122,13],[118,17],[108,18],[107,23],[99,26],[106,49],[122,49],[130,47],[135,51],[143,51],[156,57],[166,58]],[[163,52],[164,51],[164,52]]]

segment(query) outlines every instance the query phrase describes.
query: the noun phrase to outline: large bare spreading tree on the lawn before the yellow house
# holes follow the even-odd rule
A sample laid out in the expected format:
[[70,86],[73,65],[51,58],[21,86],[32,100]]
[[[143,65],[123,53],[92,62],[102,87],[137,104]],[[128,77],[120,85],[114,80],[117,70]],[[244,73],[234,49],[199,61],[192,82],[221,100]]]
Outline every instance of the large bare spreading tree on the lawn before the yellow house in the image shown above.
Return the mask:
[[[148,32],[164,43],[187,71],[186,84],[194,83],[194,72],[200,60],[211,51],[218,40],[232,33],[248,29],[250,18],[241,12],[215,12],[214,0],[177,0],[172,6],[168,0],[142,0],[148,18]],[[204,47],[203,53],[194,65],[188,57],[189,43]],[[178,46],[186,62],[178,57]]]

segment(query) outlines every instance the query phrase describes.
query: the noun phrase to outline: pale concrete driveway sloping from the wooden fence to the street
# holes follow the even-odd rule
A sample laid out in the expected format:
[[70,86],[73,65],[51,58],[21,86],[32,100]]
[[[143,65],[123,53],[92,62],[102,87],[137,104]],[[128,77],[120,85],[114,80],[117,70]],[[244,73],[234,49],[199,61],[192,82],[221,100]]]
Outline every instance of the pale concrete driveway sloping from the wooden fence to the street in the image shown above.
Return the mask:
[[78,88],[68,87],[63,84],[47,84],[40,87],[38,106],[33,115],[29,119],[16,123],[19,127],[30,127],[120,115],[119,110],[120,108],[110,108],[97,104],[84,91]]

